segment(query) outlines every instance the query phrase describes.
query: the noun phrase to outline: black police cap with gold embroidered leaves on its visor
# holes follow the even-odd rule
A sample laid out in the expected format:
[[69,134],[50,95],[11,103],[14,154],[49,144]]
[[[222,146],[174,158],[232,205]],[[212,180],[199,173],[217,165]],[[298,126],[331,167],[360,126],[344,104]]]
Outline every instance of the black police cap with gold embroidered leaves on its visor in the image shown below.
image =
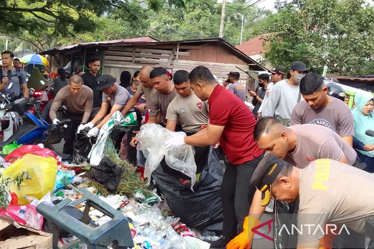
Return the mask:
[[[272,196],[272,183],[288,162],[273,153],[267,153],[255,169],[251,184],[261,191],[261,206],[267,206]],[[288,164],[289,165],[289,164]]]

